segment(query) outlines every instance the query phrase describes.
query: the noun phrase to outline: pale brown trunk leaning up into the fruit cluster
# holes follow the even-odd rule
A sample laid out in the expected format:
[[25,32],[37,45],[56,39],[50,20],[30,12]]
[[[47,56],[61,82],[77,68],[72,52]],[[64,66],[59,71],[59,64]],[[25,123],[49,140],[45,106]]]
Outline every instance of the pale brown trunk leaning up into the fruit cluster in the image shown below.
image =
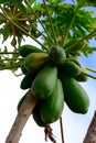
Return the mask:
[[15,121],[10,130],[6,143],[18,143],[22,133],[22,130],[36,105],[38,99],[33,97],[32,92],[29,90],[28,96],[20,108]]

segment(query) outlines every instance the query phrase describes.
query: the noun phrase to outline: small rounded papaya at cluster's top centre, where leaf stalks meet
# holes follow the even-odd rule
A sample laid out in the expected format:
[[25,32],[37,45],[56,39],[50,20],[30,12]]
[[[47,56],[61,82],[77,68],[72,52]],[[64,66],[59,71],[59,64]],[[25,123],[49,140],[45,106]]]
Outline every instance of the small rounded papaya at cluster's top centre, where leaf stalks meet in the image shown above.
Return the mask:
[[50,58],[55,65],[57,66],[62,65],[66,58],[64,48],[58,45],[51,47]]

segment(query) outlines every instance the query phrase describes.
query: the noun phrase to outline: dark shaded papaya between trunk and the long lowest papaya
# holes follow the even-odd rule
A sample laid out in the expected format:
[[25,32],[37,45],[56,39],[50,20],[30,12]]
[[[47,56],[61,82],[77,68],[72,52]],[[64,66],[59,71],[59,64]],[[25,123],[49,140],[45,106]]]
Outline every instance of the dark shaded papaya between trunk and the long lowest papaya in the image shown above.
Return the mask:
[[34,107],[33,111],[32,111],[32,117],[35,121],[35,123],[39,127],[44,128],[46,125],[46,123],[42,120],[41,114],[40,114],[40,108],[41,108],[41,103],[40,101],[36,103],[36,106]]

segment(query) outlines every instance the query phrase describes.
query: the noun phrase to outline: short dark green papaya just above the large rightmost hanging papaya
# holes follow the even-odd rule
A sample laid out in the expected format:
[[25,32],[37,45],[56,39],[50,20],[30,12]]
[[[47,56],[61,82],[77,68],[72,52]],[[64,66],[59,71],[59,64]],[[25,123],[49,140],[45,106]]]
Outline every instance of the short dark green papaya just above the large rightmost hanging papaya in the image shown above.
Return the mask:
[[72,61],[65,61],[61,66],[61,70],[71,77],[75,77],[81,74],[81,67]]

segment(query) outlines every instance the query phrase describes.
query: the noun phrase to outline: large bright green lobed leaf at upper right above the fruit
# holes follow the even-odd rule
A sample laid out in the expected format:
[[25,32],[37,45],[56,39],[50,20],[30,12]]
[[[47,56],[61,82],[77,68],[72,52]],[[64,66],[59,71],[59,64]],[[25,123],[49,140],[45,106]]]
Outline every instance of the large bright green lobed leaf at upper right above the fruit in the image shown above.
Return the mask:
[[[68,38],[72,36],[74,38],[84,37],[87,33],[93,31],[93,28],[95,29],[96,26],[96,18],[93,18],[94,12],[86,11],[84,8],[78,9],[77,13],[75,14],[75,18],[74,13],[76,7],[73,4],[58,3],[55,6],[53,2],[51,2],[50,4],[47,4],[47,9],[53,23],[53,28],[57,31],[56,35],[58,37],[61,36],[62,40],[64,38],[63,35],[66,35],[67,32]],[[71,24],[72,19],[74,19],[74,21]],[[47,15],[44,16],[42,22],[53,37]],[[44,41],[46,43],[46,40]]]

